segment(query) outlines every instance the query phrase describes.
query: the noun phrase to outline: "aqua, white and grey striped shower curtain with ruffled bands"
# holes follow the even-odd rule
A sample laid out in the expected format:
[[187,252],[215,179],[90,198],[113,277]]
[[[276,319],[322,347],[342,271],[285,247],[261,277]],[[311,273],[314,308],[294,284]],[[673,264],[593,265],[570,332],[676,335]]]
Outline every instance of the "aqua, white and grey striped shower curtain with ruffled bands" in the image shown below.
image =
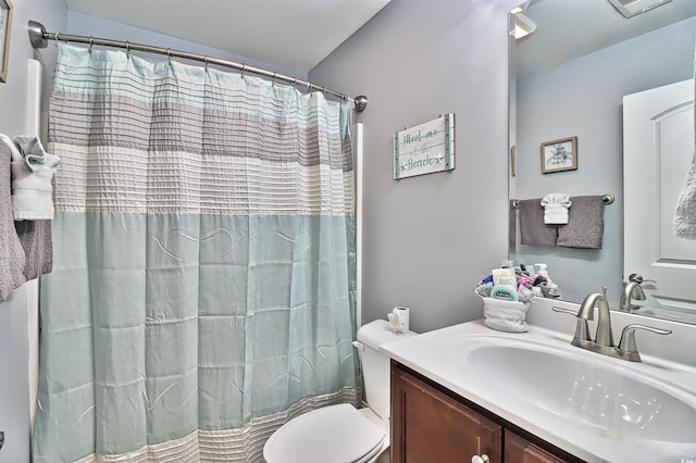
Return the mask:
[[262,461],[355,402],[350,104],[58,47],[34,461]]

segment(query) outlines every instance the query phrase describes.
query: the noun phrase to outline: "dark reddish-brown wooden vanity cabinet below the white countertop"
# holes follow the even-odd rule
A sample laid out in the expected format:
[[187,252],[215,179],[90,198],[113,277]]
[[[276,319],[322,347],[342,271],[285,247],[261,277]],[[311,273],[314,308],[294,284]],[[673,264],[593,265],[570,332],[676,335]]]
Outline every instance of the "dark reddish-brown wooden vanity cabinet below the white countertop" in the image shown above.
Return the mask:
[[581,461],[391,361],[391,463],[484,454],[490,463]]

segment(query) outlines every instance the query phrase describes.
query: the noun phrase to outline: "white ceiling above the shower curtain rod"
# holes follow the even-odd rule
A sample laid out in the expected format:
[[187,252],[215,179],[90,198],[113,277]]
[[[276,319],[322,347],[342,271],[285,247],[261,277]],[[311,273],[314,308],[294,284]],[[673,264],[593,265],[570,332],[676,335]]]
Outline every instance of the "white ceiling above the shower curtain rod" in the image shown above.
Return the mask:
[[71,11],[214,47],[304,75],[388,2],[65,0]]

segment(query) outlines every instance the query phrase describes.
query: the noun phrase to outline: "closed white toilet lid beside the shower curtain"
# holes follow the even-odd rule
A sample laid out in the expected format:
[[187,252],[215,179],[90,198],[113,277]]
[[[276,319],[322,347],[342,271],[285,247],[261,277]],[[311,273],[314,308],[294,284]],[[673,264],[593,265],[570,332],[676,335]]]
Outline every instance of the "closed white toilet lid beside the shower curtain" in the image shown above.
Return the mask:
[[304,413],[281,426],[263,448],[269,463],[349,463],[382,445],[386,433],[348,403]]

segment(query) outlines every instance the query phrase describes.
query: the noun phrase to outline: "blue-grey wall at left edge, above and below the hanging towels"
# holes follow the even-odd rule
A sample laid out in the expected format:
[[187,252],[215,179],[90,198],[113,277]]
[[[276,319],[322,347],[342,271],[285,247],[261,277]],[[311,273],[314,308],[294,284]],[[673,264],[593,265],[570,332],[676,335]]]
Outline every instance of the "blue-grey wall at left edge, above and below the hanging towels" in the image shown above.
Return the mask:
[[[27,130],[27,66],[35,55],[26,33],[29,18],[41,21],[47,27],[64,29],[65,4],[54,0],[17,0],[12,17],[8,82],[0,84],[0,133],[10,137]],[[54,53],[47,50],[40,61],[45,64],[45,83],[50,86]],[[0,430],[5,443],[0,462],[29,461],[29,384],[27,304],[24,287],[0,302]]]

